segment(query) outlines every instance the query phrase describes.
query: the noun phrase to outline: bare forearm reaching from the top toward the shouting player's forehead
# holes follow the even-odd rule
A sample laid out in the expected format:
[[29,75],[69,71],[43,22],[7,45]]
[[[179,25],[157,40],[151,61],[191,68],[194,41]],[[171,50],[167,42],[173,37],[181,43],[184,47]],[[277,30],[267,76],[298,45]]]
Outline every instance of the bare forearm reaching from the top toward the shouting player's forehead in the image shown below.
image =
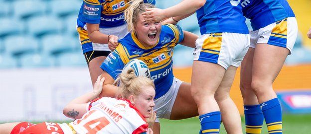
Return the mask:
[[185,16],[195,12],[205,4],[206,0],[183,0],[180,3],[164,9],[166,17]]

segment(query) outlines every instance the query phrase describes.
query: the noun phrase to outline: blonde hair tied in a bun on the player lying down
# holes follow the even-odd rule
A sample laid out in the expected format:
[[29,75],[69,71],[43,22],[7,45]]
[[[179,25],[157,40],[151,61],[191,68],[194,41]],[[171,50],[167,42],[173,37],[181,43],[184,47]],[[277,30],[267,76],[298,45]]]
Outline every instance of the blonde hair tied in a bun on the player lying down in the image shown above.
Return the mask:
[[119,75],[114,85],[119,85],[117,98],[128,98],[130,95],[139,95],[143,86],[152,86],[155,88],[154,82],[144,76],[136,76],[134,69],[131,68]]

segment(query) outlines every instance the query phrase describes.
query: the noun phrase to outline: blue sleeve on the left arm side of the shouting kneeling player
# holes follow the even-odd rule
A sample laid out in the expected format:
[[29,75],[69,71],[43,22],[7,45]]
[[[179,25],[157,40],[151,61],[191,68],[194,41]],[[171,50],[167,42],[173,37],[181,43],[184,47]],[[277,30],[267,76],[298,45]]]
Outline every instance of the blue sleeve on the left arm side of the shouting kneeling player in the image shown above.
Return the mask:
[[101,68],[112,76],[113,79],[116,79],[124,66],[125,64],[122,62],[118,51],[115,50],[108,55]]

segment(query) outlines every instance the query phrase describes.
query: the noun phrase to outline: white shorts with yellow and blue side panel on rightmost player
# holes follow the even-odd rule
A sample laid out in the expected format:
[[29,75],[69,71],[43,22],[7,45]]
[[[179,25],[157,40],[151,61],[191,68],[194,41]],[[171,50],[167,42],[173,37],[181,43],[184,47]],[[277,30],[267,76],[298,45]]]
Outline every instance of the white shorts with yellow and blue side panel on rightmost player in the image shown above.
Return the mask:
[[298,25],[295,17],[288,17],[272,23],[256,31],[250,31],[251,46],[263,43],[287,48],[292,53],[298,35]]

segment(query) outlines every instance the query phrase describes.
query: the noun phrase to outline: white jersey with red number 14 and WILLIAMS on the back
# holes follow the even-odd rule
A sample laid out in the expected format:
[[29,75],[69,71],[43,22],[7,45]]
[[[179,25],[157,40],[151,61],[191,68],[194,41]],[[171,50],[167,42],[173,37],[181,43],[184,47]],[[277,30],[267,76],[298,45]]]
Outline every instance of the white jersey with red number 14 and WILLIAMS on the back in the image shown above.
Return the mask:
[[125,99],[102,97],[89,103],[81,119],[69,123],[77,134],[142,134],[148,124]]

